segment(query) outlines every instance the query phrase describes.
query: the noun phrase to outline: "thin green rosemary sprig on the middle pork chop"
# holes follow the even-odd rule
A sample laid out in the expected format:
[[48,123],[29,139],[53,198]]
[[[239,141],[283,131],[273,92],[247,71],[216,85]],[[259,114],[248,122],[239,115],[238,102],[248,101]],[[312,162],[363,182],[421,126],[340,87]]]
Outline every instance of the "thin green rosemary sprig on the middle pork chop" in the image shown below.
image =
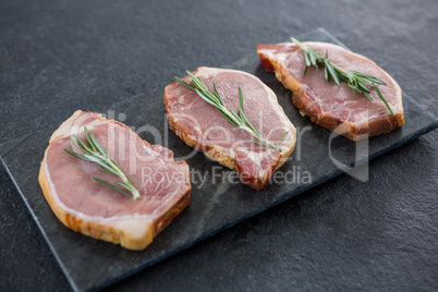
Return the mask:
[[214,92],[215,94],[210,93],[205,85],[204,81],[192,74],[190,71],[185,71],[188,76],[192,77],[192,83],[194,86],[191,86],[183,80],[175,77],[175,80],[181,83],[182,85],[191,88],[192,90],[195,90],[196,94],[204,99],[206,102],[210,104],[211,106],[216,107],[216,109],[220,112],[220,114],[223,115],[230,123],[235,125],[239,129],[242,129],[256,137],[257,139],[251,139],[252,142],[259,144],[261,146],[271,148],[273,150],[280,151],[280,142],[284,137],[285,134],[288,134],[289,131],[284,132],[281,137],[277,141],[277,146],[272,145],[270,142],[265,139],[261,134],[257,131],[257,129],[254,126],[254,124],[250,121],[250,119],[246,117],[245,111],[243,109],[243,95],[242,95],[242,88],[239,87],[239,102],[240,102],[240,109],[235,111],[234,109],[228,110],[226,105],[223,104],[222,98],[220,97],[216,84],[212,83]]

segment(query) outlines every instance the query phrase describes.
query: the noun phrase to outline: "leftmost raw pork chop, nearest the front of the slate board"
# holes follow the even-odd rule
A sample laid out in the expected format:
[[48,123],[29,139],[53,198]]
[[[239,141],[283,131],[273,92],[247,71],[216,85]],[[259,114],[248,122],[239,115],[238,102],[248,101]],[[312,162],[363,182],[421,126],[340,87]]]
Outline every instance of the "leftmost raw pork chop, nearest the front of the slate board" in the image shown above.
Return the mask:
[[[95,182],[92,177],[111,183],[119,178],[64,151],[81,153],[69,138],[76,134],[84,141],[84,126],[130,175],[139,198],[134,200]],[[120,122],[80,110],[51,136],[39,183],[68,228],[129,250],[145,248],[188,205],[192,188],[187,163],[175,162],[171,150],[148,144]]]

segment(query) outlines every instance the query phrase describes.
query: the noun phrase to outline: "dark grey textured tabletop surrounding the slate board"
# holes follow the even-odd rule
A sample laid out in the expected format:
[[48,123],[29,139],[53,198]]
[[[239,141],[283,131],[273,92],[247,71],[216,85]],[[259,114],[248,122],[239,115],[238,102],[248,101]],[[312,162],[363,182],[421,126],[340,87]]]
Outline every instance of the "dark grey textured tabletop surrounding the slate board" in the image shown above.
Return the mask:
[[[438,2],[1,1],[0,143],[325,27],[438,115]],[[437,131],[109,290],[437,290]],[[23,166],[25,167],[25,166]],[[70,290],[4,169],[0,290]],[[93,271],[90,271],[93,272]]]

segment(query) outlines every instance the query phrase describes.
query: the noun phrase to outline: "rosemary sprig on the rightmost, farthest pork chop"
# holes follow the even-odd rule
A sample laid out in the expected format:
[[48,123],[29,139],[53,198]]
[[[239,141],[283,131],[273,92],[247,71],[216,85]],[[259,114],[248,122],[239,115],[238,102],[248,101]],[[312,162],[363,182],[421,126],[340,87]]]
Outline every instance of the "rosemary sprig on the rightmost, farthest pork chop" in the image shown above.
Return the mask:
[[338,87],[341,87],[341,82],[346,82],[346,84],[353,89],[354,96],[356,96],[356,92],[358,92],[370,100],[374,100],[374,98],[369,95],[370,90],[368,86],[366,86],[367,84],[372,84],[381,101],[384,101],[385,106],[387,106],[389,112],[394,115],[391,108],[389,107],[388,101],[385,99],[384,95],[380,93],[379,87],[377,87],[376,85],[387,85],[384,81],[373,75],[361,73],[354,70],[343,70],[329,61],[328,52],[326,52],[326,57],[323,57],[319,52],[315,51],[311,47],[305,46],[296,38],[292,37],[291,39],[304,51],[306,69],[303,72],[303,77],[306,75],[307,69],[311,65],[315,66],[316,70],[319,70],[320,66],[324,68],[324,77],[327,82],[334,83]]

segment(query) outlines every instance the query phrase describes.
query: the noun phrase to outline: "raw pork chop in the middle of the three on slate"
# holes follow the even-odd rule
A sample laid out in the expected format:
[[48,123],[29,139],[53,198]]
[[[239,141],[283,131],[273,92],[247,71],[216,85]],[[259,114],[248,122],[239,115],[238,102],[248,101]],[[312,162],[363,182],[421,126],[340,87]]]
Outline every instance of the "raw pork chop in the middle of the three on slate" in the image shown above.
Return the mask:
[[[247,132],[232,125],[194,90],[178,82],[165,89],[169,124],[177,135],[211,159],[235,169],[251,187],[263,188],[295,146],[295,127],[276,95],[257,77],[242,71],[198,68],[193,74],[199,76],[211,93],[215,82],[228,109],[239,109],[238,88],[242,87],[246,115],[272,144],[289,131],[280,143],[280,151],[272,150],[252,142]],[[190,76],[183,81],[191,84]]]

